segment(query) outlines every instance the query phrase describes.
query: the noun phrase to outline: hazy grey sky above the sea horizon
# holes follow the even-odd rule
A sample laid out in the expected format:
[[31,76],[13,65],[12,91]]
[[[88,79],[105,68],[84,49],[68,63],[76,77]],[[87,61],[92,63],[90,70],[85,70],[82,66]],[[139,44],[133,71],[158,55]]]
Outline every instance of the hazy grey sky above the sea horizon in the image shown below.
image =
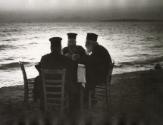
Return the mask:
[[163,0],[0,0],[0,19],[163,19]]

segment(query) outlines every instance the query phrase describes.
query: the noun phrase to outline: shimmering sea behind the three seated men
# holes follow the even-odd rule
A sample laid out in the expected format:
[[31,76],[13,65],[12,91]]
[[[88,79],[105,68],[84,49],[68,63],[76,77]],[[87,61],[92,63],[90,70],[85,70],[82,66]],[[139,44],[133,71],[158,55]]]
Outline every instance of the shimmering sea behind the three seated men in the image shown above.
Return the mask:
[[87,32],[97,33],[115,61],[114,74],[163,65],[163,22],[0,23],[0,87],[23,84],[19,61],[28,78],[37,76],[34,65],[50,52],[48,39],[60,36],[65,47],[68,32],[78,33],[83,47]]

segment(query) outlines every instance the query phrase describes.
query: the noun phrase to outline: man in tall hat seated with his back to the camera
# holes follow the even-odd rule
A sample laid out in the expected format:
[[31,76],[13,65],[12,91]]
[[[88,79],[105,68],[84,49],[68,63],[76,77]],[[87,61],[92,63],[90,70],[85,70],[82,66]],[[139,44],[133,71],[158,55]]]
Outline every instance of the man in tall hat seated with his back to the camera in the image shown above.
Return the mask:
[[[61,38],[53,37],[50,38],[51,42],[51,53],[44,55],[41,58],[39,65],[36,66],[37,70],[40,72],[40,69],[66,69],[67,81],[66,86],[71,88],[71,83],[74,79],[74,65],[73,61],[69,58],[61,55]],[[70,89],[68,89],[70,91]],[[40,75],[36,78],[35,87],[34,87],[35,100],[40,98],[41,95],[41,78]]]

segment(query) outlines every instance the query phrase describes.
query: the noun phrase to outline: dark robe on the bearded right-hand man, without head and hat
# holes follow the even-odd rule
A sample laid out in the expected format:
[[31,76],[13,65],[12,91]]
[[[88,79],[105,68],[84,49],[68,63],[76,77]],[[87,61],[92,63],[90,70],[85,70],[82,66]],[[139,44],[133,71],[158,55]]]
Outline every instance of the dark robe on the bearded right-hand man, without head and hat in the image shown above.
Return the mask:
[[86,58],[86,79],[88,87],[94,88],[98,84],[106,83],[111,57],[107,49],[96,45],[92,54]]

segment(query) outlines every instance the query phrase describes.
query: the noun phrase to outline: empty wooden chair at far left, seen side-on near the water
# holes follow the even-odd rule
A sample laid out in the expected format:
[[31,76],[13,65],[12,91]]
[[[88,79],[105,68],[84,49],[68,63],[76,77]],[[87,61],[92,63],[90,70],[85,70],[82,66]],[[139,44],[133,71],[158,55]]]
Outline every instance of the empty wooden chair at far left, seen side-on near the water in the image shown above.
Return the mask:
[[24,80],[24,103],[28,104],[29,100],[33,100],[34,79],[27,79],[27,74],[23,62],[19,62]]

